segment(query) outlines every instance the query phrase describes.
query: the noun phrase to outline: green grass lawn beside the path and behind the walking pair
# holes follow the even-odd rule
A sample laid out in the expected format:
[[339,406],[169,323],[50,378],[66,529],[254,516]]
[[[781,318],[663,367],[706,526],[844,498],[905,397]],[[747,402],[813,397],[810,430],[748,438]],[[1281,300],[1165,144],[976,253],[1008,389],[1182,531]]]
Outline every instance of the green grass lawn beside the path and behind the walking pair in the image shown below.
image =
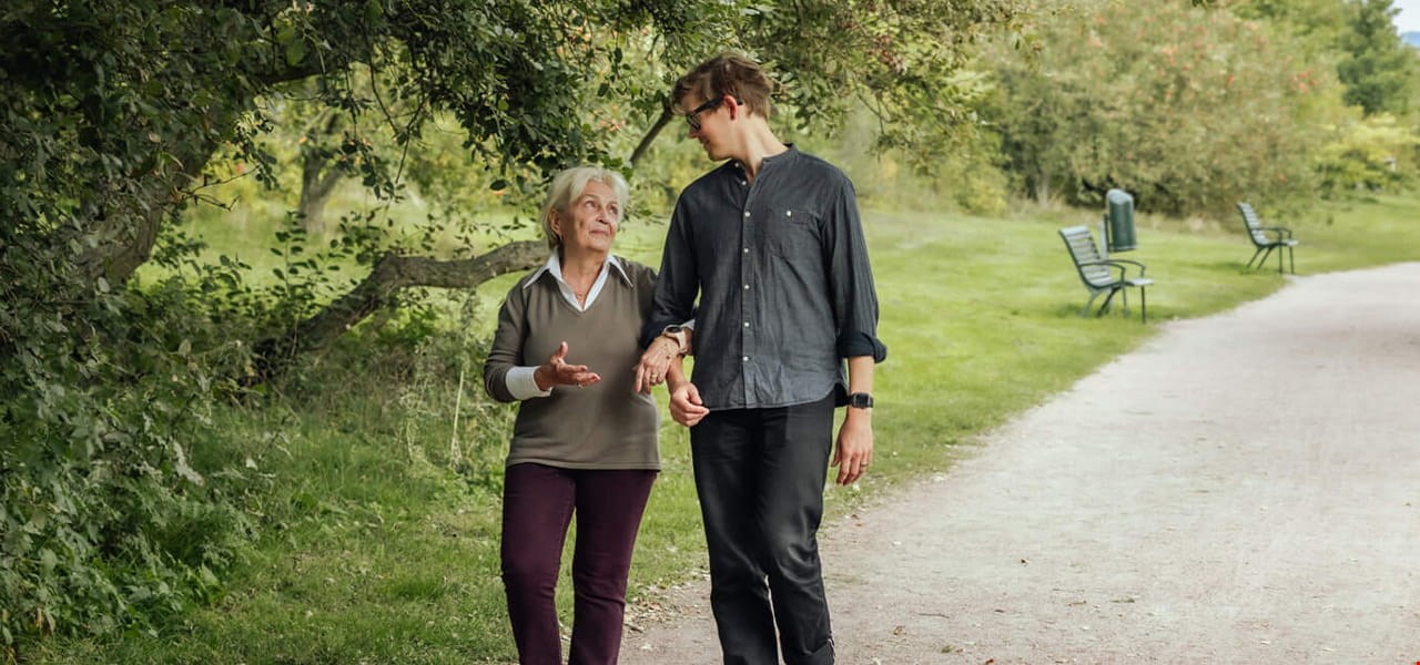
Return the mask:
[[[1267,211],[1264,210],[1264,217]],[[846,515],[895,485],[946,469],[973,437],[1069,387],[1174,318],[1206,316],[1281,288],[1237,218],[1142,217],[1150,323],[1081,318],[1086,299],[1055,230],[1099,213],[1028,208],[1010,218],[868,211],[888,362],[876,379],[873,474],[826,491]],[[1302,275],[1420,258],[1420,199],[1328,204],[1292,225]],[[663,227],[628,224],[618,250],[656,265]],[[515,279],[486,285],[484,313]],[[479,390],[477,367],[466,367]],[[334,371],[331,376],[338,377]],[[51,639],[30,662],[467,664],[511,662],[498,580],[498,474],[510,411],[453,380],[388,393],[358,386],[311,408],[219,414],[217,458],[251,458],[246,501],[260,530],[230,591],[186,625],[104,641]],[[456,379],[454,379],[456,380]],[[338,379],[337,379],[338,381]],[[364,383],[362,383],[364,381]],[[665,403],[665,394],[659,396]],[[452,421],[460,404],[460,427]],[[669,423],[669,418],[666,418]],[[459,435],[456,464],[450,441]],[[633,601],[704,570],[687,437],[663,428],[657,481],[632,569]],[[471,471],[470,471],[471,469]],[[832,561],[828,561],[832,566]],[[569,583],[559,588],[569,608]],[[567,614],[567,613],[564,613]],[[569,614],[564,621],[569,622]]]

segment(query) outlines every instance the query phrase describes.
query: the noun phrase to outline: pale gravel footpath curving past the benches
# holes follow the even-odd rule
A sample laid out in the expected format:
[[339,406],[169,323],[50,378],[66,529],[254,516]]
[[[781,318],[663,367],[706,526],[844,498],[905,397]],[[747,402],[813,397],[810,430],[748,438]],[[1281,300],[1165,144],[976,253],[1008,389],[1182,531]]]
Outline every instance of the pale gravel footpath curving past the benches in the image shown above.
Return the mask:
[[[825,525],[839,664],[1420,661],[1420,264],[1160,328]],[[720,662],[707,598],[622,662]]]

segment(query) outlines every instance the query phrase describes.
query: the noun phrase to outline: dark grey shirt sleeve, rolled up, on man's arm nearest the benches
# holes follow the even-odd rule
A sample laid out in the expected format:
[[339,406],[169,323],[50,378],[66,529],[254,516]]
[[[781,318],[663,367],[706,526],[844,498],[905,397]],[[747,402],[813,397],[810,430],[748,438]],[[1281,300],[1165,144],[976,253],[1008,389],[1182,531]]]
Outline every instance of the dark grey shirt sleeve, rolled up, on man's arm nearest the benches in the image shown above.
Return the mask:
[[829,285],[838,328],[838,354],[872,356],[873,362],[880,363],[888,357],[888,346],[878,339],[878,291],[868,262],[868,241],[858,216],[858,199],[846,180],[828,208],[825,231],[832,267]]

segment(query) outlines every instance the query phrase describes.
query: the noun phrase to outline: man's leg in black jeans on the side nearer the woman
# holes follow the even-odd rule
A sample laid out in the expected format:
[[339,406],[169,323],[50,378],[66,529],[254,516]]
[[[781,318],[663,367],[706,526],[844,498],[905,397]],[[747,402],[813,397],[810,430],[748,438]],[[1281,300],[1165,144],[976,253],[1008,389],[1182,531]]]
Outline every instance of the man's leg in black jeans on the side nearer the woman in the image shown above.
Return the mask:
[[711,411],[690,430],[700,515],[710,553],[710,607],[726,665],[778,662],[774,615],[755,525],[760,485],[758,414]]

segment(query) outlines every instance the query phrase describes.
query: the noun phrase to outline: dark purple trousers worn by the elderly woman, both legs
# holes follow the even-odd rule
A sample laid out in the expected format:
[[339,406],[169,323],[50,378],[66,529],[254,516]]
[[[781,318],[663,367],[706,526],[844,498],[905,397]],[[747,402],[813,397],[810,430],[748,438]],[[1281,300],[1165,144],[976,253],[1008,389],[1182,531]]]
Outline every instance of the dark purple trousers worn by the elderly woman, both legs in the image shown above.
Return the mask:
[[577,515],[571,665],[612,665],[621,652],[626,574],[656,472],[508,466],[503,488],[503,586],[523,665],[561,665],[557,576]]

